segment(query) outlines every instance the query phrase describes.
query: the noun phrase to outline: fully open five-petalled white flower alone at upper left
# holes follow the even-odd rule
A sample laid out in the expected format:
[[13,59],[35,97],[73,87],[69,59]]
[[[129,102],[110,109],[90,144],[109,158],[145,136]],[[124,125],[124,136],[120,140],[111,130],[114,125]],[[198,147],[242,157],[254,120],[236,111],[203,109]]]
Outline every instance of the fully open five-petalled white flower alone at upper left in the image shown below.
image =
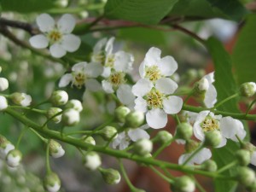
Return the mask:
[[50,15],[42,14],[37,17],[37,24],[44,34],[38,34],[29,39],[32,47],[44,49],[49,45],[50,55],[56,58],[79,49],[80,38],[71,34],[76,24],[72,15],[62,15],[55,24],[55,20]]

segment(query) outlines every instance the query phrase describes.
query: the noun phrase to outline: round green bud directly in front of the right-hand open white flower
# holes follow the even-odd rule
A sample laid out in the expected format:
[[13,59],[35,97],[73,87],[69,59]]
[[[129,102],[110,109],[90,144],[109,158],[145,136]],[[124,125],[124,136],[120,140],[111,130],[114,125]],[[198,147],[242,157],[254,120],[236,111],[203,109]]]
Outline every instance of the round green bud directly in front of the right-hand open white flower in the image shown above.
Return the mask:
[[221,133],[218,130],[207,131],[205,133],[205,142],[206,147],[217,148],[221,143]]

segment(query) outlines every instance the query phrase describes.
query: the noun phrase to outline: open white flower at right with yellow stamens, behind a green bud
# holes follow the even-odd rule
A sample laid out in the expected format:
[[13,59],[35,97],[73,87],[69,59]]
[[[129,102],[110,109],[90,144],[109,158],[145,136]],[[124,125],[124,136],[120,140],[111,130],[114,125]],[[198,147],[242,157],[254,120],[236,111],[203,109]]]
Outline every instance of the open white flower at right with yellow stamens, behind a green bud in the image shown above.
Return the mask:
[[221,148],[226,144],[227,138],[238,142],[236,136],[240,137],[241,140],[246,136],[246,131],[244,130],[241,121],[237,119],[231,117],[222,118],[221,115],[214,115],[214,113],[210,111],[201,111],[198,113],[194,124],[195,137],[204,141],[204,132],[212,130],[218,130],[222,135],[222,141],[218,145],[218,148]]

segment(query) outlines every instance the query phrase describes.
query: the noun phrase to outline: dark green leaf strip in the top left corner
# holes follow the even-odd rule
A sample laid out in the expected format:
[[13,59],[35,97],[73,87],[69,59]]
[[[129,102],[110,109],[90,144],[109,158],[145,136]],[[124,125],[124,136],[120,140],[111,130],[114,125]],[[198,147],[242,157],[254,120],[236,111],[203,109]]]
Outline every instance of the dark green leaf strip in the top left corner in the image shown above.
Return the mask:
[[30,13],[43,11],[54,7],[53,0],[1,0],[3,11],[17,11],[20,13]]

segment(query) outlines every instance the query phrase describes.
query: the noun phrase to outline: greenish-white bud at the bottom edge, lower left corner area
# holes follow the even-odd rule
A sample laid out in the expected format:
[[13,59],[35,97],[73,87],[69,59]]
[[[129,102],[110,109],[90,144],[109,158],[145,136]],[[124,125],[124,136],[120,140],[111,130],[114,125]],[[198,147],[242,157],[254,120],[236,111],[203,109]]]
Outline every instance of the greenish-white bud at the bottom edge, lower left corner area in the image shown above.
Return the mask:
[[57,192],[61,189],[61,180],[55,172],[50,172],[44,177],[44,189]]

